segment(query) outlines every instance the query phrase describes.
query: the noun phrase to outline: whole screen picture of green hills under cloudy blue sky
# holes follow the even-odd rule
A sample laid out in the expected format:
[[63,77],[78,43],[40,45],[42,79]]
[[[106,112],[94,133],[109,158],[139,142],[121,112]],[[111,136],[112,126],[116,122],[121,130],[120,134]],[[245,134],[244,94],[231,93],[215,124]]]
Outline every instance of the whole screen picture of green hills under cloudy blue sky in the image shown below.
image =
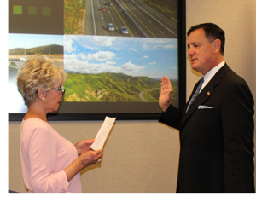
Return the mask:
[[64,101],[157,102],[160,78],[177,100],[177,40],[64,36]]

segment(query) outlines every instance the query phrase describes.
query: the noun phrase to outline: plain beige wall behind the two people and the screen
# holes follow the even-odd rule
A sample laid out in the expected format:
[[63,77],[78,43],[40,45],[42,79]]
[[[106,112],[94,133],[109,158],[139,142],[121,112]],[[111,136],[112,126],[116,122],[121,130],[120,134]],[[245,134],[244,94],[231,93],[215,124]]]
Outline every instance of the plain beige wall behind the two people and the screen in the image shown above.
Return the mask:
[[[256,1],[187,0],[187,29],[217,23],[226,32],[225,61],[243,78],[256,99]],[[187,63],[187,97],[200,78]],[[75,143],[96,136],[102,121],[51,122]],[[26,193],[20,170],[20,122],[9,122],[9,189]],[[254,133],[255,134],[255,133]],[[157,121],[116,121],[102,164],[82,171],[84,193],[175,193],[177,130]],[[256,176],[256,175],[255,175]]]

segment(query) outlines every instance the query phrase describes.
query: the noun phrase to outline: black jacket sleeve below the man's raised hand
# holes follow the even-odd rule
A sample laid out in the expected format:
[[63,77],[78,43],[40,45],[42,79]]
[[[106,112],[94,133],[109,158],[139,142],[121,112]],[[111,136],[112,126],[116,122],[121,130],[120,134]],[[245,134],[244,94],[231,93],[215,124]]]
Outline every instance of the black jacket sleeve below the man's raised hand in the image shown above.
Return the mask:
[[159,122],[169,125],[177,130],[180,130],[182,121],[182,113],[174,106],[170,105],[166,112],[160,116]]

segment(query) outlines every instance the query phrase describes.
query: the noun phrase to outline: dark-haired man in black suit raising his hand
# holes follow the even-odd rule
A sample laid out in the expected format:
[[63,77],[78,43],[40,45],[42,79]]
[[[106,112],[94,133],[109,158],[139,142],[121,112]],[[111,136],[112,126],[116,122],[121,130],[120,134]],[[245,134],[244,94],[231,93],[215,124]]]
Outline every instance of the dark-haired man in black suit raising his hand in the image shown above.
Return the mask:
[[189,29],[191,67],[203,83],[183,112],[172,106],[172,84],[162,78],[160,122],[180,130],[177,193],[255,193],[253,95],[225,64],[224,42],[215,24]]

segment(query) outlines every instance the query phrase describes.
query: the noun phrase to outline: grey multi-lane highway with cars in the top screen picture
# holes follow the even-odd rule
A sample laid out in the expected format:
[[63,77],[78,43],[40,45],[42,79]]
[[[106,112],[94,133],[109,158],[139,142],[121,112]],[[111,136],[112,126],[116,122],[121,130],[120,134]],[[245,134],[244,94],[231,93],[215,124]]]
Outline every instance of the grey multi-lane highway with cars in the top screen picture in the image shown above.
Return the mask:
[[87,0],[85,35],[177,38],[177,20],[141,0]]

